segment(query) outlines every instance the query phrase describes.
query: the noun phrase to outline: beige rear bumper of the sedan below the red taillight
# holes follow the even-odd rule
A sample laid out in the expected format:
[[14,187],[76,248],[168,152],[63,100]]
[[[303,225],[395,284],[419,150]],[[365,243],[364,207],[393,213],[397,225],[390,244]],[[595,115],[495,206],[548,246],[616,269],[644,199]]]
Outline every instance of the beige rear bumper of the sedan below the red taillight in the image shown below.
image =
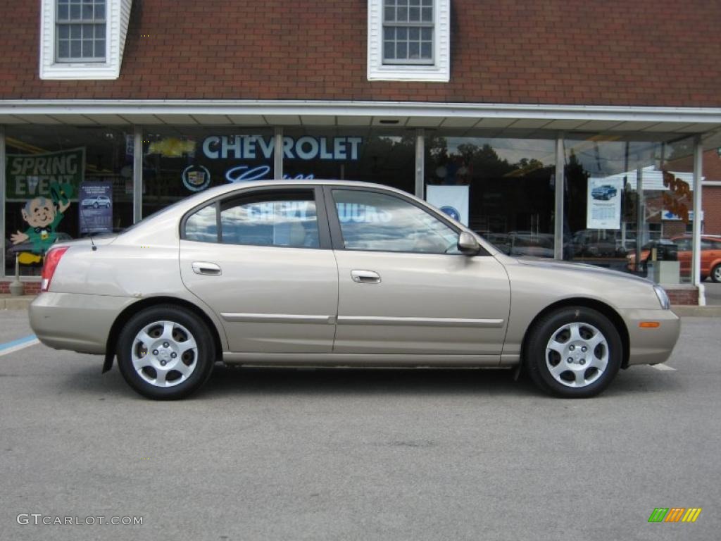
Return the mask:
[[30,327],[45,346],[105,353],[110,327],[137,299],[76,293],[41,293],[30,304]]

